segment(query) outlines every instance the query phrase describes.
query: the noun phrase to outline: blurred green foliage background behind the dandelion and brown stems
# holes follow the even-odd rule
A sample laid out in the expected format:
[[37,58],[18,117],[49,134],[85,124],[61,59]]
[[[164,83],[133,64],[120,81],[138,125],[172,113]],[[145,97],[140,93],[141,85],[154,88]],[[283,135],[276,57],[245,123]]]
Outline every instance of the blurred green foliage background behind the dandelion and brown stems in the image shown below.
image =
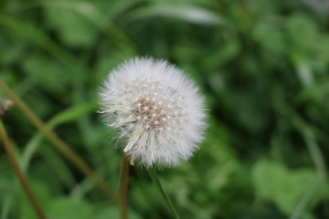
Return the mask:
[[[0,77],[117,189],[98,88],[127,58],[168,59],[207,97],[201,149],[160,171],[182,218],[329,218],[328,16],[324,0],[1,0]],[[20,110],[4,122],[49,218],[118,218]],[[130,218],[170,218],[148,174],[130,173]],[[0,218],[37,218],[3,147]]]

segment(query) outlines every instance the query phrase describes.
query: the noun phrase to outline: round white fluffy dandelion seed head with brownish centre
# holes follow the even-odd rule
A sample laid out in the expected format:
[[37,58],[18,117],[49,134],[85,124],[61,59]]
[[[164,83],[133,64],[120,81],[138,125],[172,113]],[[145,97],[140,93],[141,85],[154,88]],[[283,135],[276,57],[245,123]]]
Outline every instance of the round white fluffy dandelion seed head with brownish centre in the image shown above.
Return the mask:
[[163,60],[135,57],[101,88],[102,120],[121,131],[131,164],[175,166],[203,141],[204,99],[194,82]]

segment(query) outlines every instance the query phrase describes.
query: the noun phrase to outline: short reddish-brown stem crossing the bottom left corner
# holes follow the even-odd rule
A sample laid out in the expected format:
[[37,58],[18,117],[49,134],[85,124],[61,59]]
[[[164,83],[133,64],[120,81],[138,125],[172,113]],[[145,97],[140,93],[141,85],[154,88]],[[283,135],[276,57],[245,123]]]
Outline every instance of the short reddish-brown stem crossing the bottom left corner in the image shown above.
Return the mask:
[[32,204],[33,208],[35,209],[37,215],[39,218],[41,219],[46,219],[46,214],[43,212],[41,206],[39,205],[39,203],[37,203],[37,198],[36,196],[33,194],[32,190],[30,189],[29,184],[27,183],[27,178],[24,176],[22,170],[19,167],[19,164],[16,160],[15,157],[15,153],[10,145],[9,139],[8,139],[8,135],[5,131],[5,126],[2,120],[0,120],[0,133],[1,133],[1,138],[4,141],[4,145],[5,145],[5,151],[8,154],[8,157],[10,159],[11,164],[14,167],[14,170],[16,172],[16,175],[19,179],[19,182],[21,183],[24,191],[27,193],[27,198],[30,201],[30,203]]

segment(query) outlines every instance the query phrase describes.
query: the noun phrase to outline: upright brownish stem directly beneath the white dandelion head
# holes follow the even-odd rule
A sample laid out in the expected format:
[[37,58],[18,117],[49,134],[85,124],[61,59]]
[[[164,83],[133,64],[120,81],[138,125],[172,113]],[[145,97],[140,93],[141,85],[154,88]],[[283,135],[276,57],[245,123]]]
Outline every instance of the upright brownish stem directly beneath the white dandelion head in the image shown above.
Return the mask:
[[119,203],[120,203],[120,218],[128,218],[128,177],[129,177],[129,162],[124,153],[122,153],[122,164],[120,170],[119,183]]

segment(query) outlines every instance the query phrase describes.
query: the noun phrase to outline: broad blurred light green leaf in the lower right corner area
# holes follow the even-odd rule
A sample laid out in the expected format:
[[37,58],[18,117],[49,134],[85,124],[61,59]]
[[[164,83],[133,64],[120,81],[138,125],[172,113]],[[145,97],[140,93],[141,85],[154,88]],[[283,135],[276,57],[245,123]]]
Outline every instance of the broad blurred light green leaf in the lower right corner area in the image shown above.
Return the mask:
[[[257,162],[252,170],[252,178],[257,193],[261,197],[275,203],[281,212],[287,215],[292,214],[297,204],[314,184],[320,182],[316,172],[307,169],[300,169],[291,172],[280,163],[261,161]],[[318,187],[308,203],[305,214],[310,212],[314,204],[320,201]]]

